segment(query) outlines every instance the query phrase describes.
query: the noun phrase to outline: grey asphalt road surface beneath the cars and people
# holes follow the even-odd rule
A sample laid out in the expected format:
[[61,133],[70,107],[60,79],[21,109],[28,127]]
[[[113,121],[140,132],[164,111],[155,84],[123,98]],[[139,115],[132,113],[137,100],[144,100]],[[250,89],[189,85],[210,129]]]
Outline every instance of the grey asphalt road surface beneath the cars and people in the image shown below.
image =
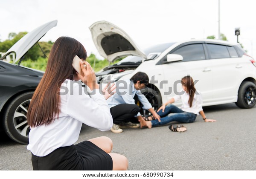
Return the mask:
[[[84,125],[79,141],[98,136],[113,140],[113,152],[125,155],[128,170],[256,170],[256,107],[235,104],[204,107],[206,123],[198,116],[184,124],[184,133],[167,126],[101,132]],[[31,153],[1,134],[0,170],[32,170]]]

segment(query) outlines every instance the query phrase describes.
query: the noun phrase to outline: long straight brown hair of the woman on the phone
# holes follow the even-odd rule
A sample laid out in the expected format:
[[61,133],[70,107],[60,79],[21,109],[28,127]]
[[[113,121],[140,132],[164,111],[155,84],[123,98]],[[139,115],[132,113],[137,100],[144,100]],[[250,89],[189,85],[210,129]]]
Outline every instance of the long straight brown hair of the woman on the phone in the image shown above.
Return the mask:
[[29,104],[27,119],[31,127],[51,124],[58,117],[60,83],[76,74],[72,66],[76,55],[83,60],[87,57],[84,46],[74,38],[60,37],[53,44],[44,76]]

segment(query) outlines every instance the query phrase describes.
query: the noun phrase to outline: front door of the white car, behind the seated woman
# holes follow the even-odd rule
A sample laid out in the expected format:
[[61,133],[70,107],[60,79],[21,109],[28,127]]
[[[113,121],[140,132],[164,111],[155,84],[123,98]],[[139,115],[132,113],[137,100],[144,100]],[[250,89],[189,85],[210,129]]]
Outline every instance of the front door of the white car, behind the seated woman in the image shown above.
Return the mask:
[[[203,94],[205,103],[209,103],[212,96],[212,61],[209,61],[203,42],[184,43],[171,50],[168,54],[183,56],[183,60],[174,63],[167,63],[166,57],[161,60],[164,72],[164,79],[168,83],[163,84],[168,95],[166,100],[172,98],[182,89],[181,78],[190,75],[194,79],[196,89]],[[166,55],[167,56],[167,55]],[[178,103],[177,105],[179,105]]]

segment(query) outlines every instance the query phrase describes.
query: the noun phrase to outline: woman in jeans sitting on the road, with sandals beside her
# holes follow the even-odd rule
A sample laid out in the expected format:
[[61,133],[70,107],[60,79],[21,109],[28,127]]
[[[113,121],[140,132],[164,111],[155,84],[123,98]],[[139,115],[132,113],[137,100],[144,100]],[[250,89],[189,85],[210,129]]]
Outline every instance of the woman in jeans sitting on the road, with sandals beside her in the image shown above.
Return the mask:
[[[193,79],[190,76],[185,76],[181,79],[181,84],[183,87],[183,94],[174,96],[157,110],[157,114],[161,117],[160,121],[152,120],[153,118],[150,116],[148,119],[152,121],[146,121],[148,128],[167,124],[172,121],[191,123],[195,121],[195,118],[199,113],[205,122],[216,122],[216,120],[207,119],[205,116],[202,108],[202,95],[195,89]],[[172,103],[180,99],[182,101],[181,109],[172,105]],[[175,132],[186,131],[186,127],[183,125],[170,125],[169,129]]]

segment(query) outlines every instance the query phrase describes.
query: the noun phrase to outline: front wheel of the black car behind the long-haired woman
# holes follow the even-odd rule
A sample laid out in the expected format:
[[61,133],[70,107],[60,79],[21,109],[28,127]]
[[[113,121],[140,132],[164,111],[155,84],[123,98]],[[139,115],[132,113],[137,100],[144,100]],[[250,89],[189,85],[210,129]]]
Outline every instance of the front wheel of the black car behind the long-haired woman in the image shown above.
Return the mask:
[[25,92],[14,98],[4,112],[3,128],[14,141],[28,144],[30,127],[27,111],[34,92]]

